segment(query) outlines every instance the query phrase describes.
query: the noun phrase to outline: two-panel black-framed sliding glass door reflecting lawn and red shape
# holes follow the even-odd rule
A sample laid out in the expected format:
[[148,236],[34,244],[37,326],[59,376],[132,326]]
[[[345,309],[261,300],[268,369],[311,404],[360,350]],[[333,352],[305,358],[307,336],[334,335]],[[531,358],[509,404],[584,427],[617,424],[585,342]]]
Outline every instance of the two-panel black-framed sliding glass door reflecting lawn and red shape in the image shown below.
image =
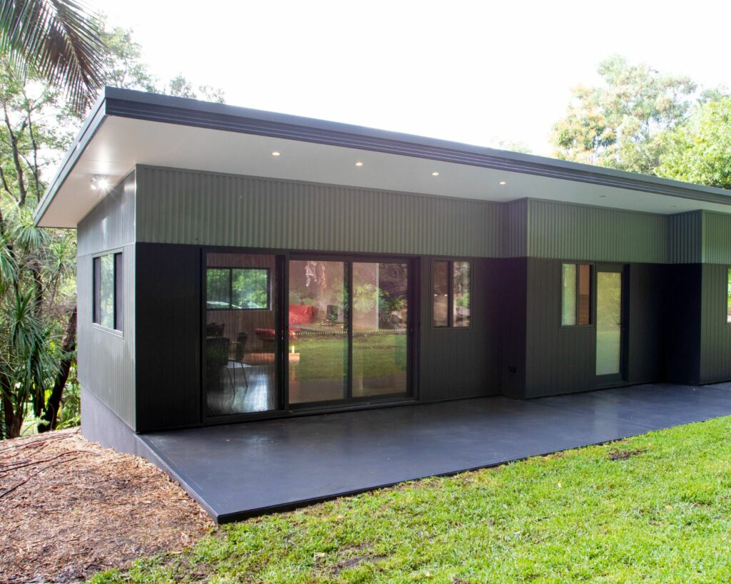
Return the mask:
[[289,261],[289,404],[409,393],[409,264]]

